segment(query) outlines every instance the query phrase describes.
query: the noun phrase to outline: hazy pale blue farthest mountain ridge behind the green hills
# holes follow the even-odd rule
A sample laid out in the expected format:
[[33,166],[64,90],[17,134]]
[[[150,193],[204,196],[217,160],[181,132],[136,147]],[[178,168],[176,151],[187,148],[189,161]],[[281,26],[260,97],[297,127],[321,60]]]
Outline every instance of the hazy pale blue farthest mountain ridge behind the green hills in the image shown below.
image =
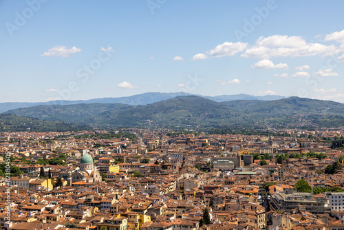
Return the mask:
[[[37,105],[76,105],[76,104],[93,104],[93,103],[122,103],[127,105],[148,105],[159,101],[164,101],[166,99],[175,98],[177,96],[191,96],[193,94],[188,94],[185,92],[176,93],[160,93],[160,92],[149,92],[144,94],[137,94],[133,96],[123,96],[118,98],[95,98],[91,100],[79,100],[79,101],[48,101],[48,102],[36,102],[36,103],[0,103],[0,113],[6,112],[12,109],[19,109],[25,107],[33,107]],[[202,95],[197,95],[202,96]],[[283,96],[252,96],[247,94],[237,94],[237,95],[222,95],[222,96],[202,96],[213,101],[233,101],[233,100],[261,100],[261,101],[271,101],[281,98]]]

